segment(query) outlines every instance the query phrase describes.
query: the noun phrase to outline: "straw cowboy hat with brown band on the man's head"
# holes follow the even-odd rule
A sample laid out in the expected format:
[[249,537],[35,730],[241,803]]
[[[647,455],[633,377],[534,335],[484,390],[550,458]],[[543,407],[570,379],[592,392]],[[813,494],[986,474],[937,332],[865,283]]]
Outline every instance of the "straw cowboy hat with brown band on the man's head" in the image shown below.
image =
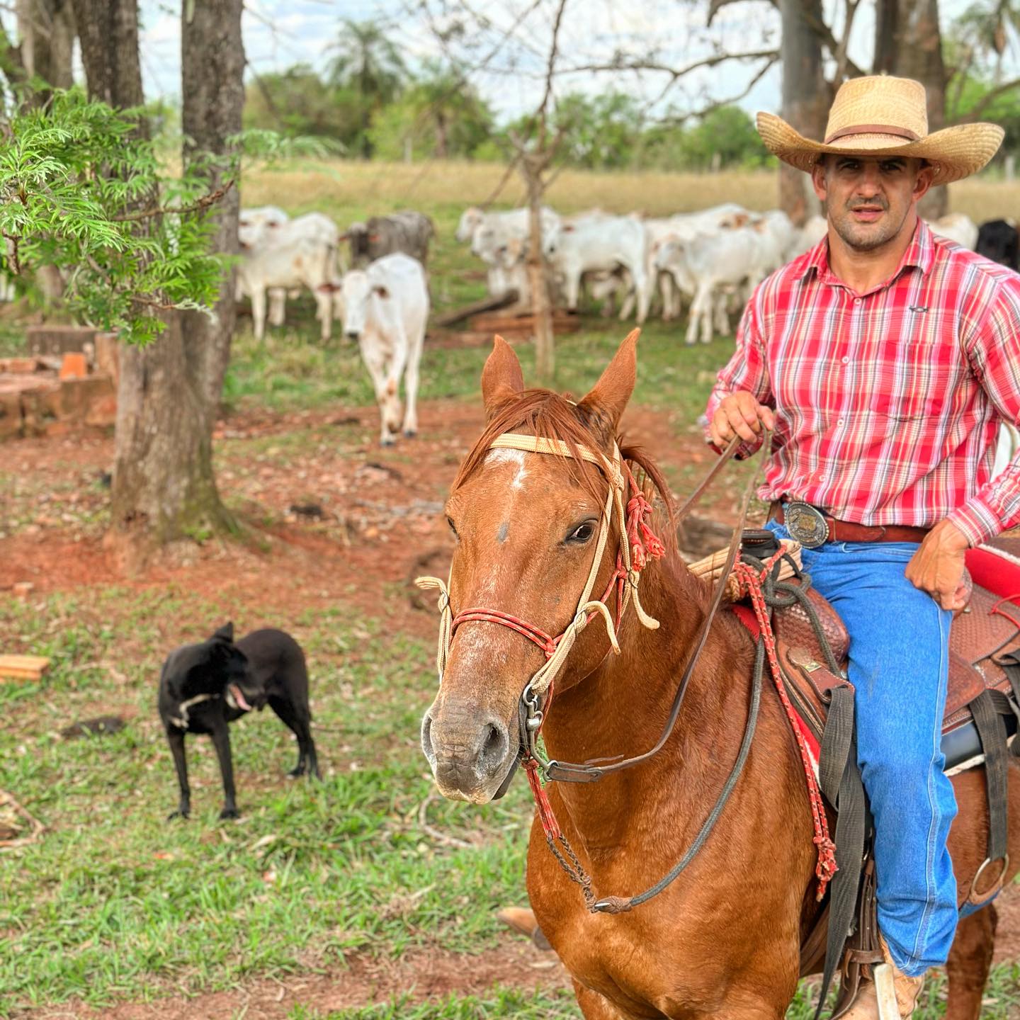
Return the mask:
[[758,114],[758,134],[769,152],[799,170],[826,153],[855,156],[913,156],[934,168],[933,184],[976,173],[996,154],[1005,132],[998,124],[972,123],[928,134],[924,86],[909,78],[853,78],[829,110],[825,141],[804,138],[773,113]]

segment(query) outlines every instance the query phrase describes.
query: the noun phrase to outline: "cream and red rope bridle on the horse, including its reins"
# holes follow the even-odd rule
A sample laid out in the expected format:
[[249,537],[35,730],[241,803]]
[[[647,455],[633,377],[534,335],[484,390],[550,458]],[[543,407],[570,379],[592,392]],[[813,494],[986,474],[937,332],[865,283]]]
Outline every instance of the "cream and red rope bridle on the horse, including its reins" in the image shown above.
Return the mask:
[[[722,466],[733,456],[738,443],[740,441],[736,438],[729,443],[722,456],[680,508],[677,513],[677,520],[683,519],[683,516],[709,487]],[[768,450],[770,446],[771,434],[766,431],[763,449]],[[575,456],[570,447],[561,440],[551,440],[537,436],[522,436],[516,432],[503,432],[496,437],[490,449],[521,450],[527,453],[541,453],[559,457]],[[500,788],[497,790],[495,798],[502,797],[506,793],[517,766],[523,765],[534,796],[536,806],[546,833],[547,843],[564,871],[566,871],[573,881],[581,886],[589,910],[603,913],[619,913],[630,910],[632,907],[644,903],[646,900],[662,891],[686,867],[708,838],[743,769],[747,751],[754,735],[758,705],[757,693],[753,699],[753,711],[748,716],[748,725],[742,743],[742,751],[737,764],[730,773],[715,808],[702,826],[698,837],[683,859],[674,866],[669,874],[641,896],[631,898],[607,897],[603,900],[596,900],[595,894],[592,890],[591,877],[584,872],[584,869],[556,821],[549,799],[542,786],[540,772],[546,781],[595,782],[611,772],[618,772],[653,758],[665,747],[679,716],[680,707],[683,703],[691,676],[705,647],[712,620],[715,618],[716,612],[722,603],[723,595],[725,594],[726,578],[733,567],[737,550],[740,549],[741,533],[747,519],[751,496],[757,488],[758,472],[755,472],[755,476],[751,479],[745,492],[740,521],[730,540],[722,574],[716,583],[709,610],[705,615],[701,631],[695,643],[694,652],[680,677],[669,717],[656,745],[644,754],[632,758],[623,758],[617,755],[609,758],[595,758],[579,763],[558,762],[546,759],[538,745],[539,734],[549,711],[553,694],[553,683],[557,675],[563,668],[574,642],[597,615],[602,617],[606,626],[611,651],[617,655],[620,654],[617,634],[623,614],[630,602],[633,603],[638,618],[643,626],[651,630],[658,628],[659,621],[649,616],[641,604],[639,582],[641,580],[641,573],[649,561],[651,559],[658,559],[665,552],[662,541],[653,533],[650,526],[652,506],[645,496],[644,491],[638,486],[629,466],[620,454],[619,446],[615,442],[613,443],[611,458],[607,458],[601,453],[593,452],[586,447],[577,446],[575,449],[576,456],[596,464],[603,470],[609,480],[609,493],[606,496],[606,503],[602,512],[599,540],[592,558],[592,566],[589,569],[588,579],[577,601],[577,608],[573,618],[562,633],[553,638],[541,627],[498,609],[469,608],[454,615],[450,606],[450,588],[448,581],[444,581],[440,577],[418,577],[415,583],[418,588],[425,590],[438,589],[440,593],[440,635],[436,665],[441,683],[447,662],[450,658],[450,645],[454,633],[459,626],[468,622],[496,623],[509,627],[532,642],[545,653],[546,662],[532,674],[521,693],[518,703],[518,721],[520,727],[518,755],[510,767],[507,776],[501,783]],[[764,463],[765,458],[763,457],[762,464],[764,465]],[[626,503],[626,509],[624,509],[623,496],[627,488],[629,488],[631,495]],[[620,525],[620,545],[617,551],[616,569],[610,577],[609,584],[602,598],[593,600],[592,592],[603,562],[614,513]],[[451,564],[451,576],[452,572],[453,566]],[[614,591],[616,592],[615,619],[608,607],[608,601]],[[606,655],[608,656],[608,654],[607,652]],[[605,661],[605,657],[603,657],[602,661]]]

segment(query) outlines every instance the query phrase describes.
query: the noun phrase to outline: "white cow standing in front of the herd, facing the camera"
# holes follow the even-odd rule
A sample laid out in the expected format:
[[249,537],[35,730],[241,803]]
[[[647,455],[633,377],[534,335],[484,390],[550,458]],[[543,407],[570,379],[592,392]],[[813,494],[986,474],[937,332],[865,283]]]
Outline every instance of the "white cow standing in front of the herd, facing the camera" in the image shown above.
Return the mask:
[[336,300],[344,334],[358,341],[375,387],[382,419],[379,442],[391,445],[401,427],[402,375],[407,395],[404,435],[413,436],[418,430],[418,366],[428,319],[428,286],[421,263],[403,252],[384,255],[366,269],[345,273]]

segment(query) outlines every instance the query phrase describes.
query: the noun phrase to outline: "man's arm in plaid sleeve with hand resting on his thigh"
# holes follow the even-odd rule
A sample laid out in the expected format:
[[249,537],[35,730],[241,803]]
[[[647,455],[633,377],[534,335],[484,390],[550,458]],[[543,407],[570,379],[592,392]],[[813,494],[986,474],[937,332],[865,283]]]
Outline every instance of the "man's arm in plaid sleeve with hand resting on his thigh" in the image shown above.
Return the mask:
[[[1020,424],[1020,277],[999,283],[965,338],[971,368],[1007,421]],[[1020,523],[1020,453],[962,507],[939,521],[907,565],[907,579],[944,609],[959,609],[968,548]]]

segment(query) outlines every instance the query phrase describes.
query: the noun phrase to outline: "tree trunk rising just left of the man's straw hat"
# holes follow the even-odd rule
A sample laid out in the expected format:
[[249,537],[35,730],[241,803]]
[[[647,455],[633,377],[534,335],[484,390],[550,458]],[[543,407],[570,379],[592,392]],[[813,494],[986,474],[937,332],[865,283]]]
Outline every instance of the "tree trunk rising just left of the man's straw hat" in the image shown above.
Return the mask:
[[[779,0],[782,16],[782,117],[802,135],[820,139],[832,101],[822,67],[821,0]],[[779,207],[798,226],[818,210],[801,170],[779,164]]]

